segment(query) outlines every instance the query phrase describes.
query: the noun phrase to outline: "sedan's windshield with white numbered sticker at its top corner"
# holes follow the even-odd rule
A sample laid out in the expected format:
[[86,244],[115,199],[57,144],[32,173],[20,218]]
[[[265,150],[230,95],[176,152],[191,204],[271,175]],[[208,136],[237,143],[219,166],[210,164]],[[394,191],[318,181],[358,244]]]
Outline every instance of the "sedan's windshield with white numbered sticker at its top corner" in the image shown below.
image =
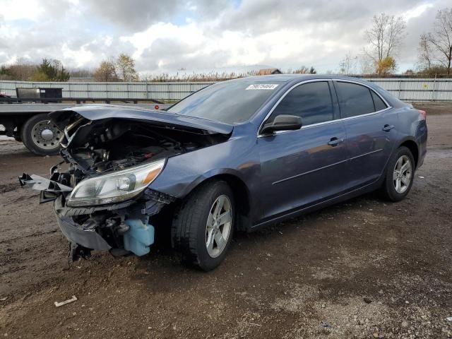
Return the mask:
[[215,83],[177,102],[167,112],[239,124],[249,120],[280,85],[279,81],[251,79]]

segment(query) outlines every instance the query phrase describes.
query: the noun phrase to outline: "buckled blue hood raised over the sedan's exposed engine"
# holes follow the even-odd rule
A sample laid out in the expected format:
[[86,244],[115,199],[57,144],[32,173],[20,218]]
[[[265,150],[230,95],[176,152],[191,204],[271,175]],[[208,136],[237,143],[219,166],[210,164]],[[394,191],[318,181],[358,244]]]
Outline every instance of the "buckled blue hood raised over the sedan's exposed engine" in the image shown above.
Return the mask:
[[188,115],[168,113],[154,109],[141,109],[119,105],[85,105],[78,107],[68,107],[49,113],[50,119],[63,130],[76,119],[76,115],[90,121],[102,119],[131,119],[151,122],[156,125],[182,127],[201,131],[202,133],[230,134],[234,126],[219,121],[190,117]]

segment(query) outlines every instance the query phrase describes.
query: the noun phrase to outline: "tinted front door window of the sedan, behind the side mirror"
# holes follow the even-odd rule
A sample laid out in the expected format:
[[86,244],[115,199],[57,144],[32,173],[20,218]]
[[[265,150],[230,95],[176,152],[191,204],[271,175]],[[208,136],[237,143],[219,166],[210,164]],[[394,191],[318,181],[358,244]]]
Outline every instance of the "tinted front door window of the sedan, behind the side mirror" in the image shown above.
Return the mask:
[[333,120],[333,100],[328,82],[304,83],[294,88],[273,110],[268,122],[280,114],[301,117],[303,126]]

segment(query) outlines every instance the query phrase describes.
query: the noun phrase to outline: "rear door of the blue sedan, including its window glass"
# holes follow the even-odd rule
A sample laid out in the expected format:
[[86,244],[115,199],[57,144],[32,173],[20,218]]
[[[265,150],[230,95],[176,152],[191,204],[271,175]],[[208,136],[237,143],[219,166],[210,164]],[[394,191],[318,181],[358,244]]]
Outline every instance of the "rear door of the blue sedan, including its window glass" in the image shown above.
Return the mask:
[[365,85],[347,81],[334,85],[347,135],[347,188],[355,189],[381,176],[393,150],[398,115]]

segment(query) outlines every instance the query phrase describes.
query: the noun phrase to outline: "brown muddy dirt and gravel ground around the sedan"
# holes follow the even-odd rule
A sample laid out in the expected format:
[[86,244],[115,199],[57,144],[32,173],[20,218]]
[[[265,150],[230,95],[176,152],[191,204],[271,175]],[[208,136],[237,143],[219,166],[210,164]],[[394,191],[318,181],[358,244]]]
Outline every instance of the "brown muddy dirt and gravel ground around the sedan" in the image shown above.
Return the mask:
[[59,158],[1,138],[0,337],[451,338],[452,105],[418,106],[429,150],[408,198],[369,194],[237,234],[210,273],[165,246],[69,265],[51,204],[17,181]]

